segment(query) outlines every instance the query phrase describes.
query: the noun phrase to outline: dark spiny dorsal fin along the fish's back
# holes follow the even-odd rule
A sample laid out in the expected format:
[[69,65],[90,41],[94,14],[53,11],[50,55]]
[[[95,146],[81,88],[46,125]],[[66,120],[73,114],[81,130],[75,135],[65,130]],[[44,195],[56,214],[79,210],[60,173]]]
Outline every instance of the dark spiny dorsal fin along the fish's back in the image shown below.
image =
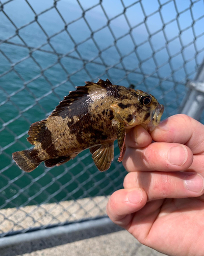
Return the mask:
[[56,109],[52,112],[50,116],[58,116],[64,110],[67,110],[71,105],[72,108],[78,108],[79,104],[82,101],[85,101],[88,95],[91,95],[102,88],[106,89],[109,86],[112,86],[112,83],[109,79],[106,81],[98,79],[96,83],[94,82],[85,82],[85,86],[76,87],[75,91],[69,92],[69,95],[65,96],[64,99],[60,102]]

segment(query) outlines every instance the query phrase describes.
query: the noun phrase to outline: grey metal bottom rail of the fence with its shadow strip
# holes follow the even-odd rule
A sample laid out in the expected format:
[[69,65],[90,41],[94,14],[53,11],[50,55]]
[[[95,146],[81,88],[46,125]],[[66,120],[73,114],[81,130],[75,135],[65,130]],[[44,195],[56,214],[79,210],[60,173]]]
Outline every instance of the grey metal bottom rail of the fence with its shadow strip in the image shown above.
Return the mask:
[[[122,230],[108,217],[0,239],[0,255],[16,256]],[[67,254],[68,255],[68,254]],[[86,254],[85,254],[86,255]]]

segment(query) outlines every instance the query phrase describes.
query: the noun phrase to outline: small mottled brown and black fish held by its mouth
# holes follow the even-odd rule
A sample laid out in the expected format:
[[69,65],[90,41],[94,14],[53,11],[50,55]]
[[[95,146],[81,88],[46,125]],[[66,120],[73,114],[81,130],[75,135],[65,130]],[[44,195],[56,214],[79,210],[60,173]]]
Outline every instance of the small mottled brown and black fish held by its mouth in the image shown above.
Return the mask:
[[109,79],[85,83],[69,92],[46,119],[30,126],[27,140],[34,147],[12,154],[22,170],[32,172],[41,162],[60,166],[89,148],[96,167],[104,172],[113,161],[116,139],[121,162],[126,133],[139,124],[152,131],[160,123],[164,106],[151,94]]

